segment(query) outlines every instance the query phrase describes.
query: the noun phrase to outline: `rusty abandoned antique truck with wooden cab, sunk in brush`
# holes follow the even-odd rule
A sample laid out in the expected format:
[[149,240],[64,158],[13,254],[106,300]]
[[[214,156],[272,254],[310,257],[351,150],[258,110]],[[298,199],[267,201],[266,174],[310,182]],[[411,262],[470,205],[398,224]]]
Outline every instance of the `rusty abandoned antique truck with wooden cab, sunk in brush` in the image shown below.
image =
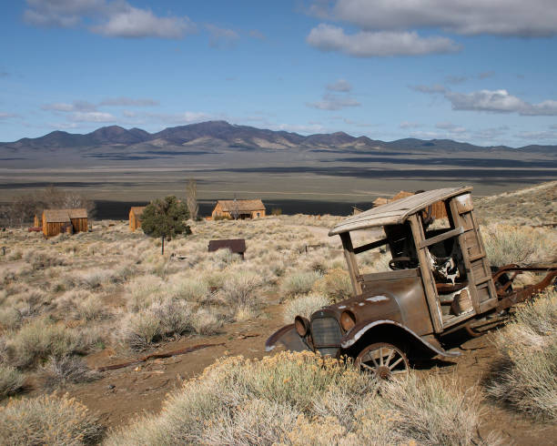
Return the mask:
[[[329,236],[342,240],[354,297],[315,311],[310,320],[297,316],[268,338],[266,350],[282,344],[289,350],[347,355],[362,370],[387,379],[407,373],[413,360],[458,356],[443,349],[445,335],[462,329],[478,335],[501,323],[513,305],[551,285],[557,265],[507,265],[492,271],[471,189],[422,192],[332,228]],[[430,209],[440,202],[448,222],[445,228],[430,229]],[[353,231],[369,234],[381,227],[384,238],[353,246]],[[389,249],[391,270],[360,274],[357,255],[374,248]],[[522,271],[546,275],[535,285],[512,289]]]

